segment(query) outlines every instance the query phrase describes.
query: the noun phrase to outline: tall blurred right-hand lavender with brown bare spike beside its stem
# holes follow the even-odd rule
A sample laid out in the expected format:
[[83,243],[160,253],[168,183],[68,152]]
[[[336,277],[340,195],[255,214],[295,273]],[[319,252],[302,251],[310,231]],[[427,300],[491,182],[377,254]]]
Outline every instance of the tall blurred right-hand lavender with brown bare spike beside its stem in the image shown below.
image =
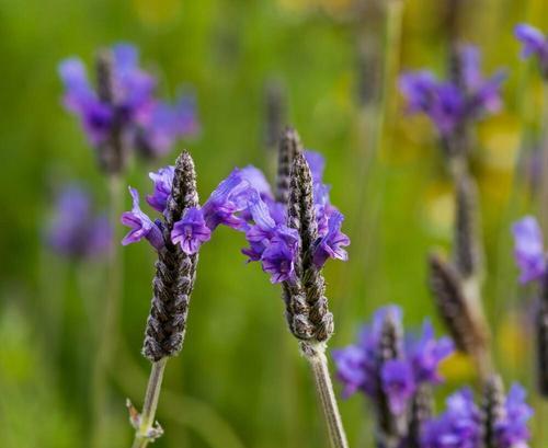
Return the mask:
[[404,73],[400,88],[410,113],[423,113],[433,122],[455,187],[453,262],[431,260],[431,285],[438,310],[457,347],[476,359],[478,372],[491,371],[489,326],[481,302],[483,276],[479,236],[477,187],[469,173],[473,124],[501,106],[499,71],[484,79],[480,57],[472,46],[456,47],[450,77],[438,81],[429,71]]

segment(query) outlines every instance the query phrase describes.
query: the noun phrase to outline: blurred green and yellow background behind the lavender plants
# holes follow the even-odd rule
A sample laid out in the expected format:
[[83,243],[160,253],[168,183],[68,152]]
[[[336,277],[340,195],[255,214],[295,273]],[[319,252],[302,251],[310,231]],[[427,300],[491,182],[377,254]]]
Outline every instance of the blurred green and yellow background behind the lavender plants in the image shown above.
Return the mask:
[[[386,0],[389,2],[390,0]],[[359,2],[357,2],[359,3]],[[75,262],[44,243],[60,185],[79,182],[106,208],[107,188],[77,119],[61,106],[60,59],[90,62],[96,48],[135,43],[159,77],[162,94],[181,82],[197,95],[202,131],[164,160],[134,162],[126,183],[147,192],[149,171],[186,147],[207,197],[237,165],[271,176],[265,91],[281,85],[286,119],[305,145],[326,156],[333,203],[345,214],[350,261],[329,263],[335,315],[331,347],[349,344],[380,305],[404,308],[406,324],[434,315],[425,257],[448,251],[450,183],[430,124],[402,112],[387,76],[388,116],[380,151],[367,157],[364,95],[381,89],[387,50],[383,3],[351,0],[0,0],[0,434],[5,448],[88,446],[90,371],[101,329],[105,261]],[[370,4],[369,4],[370,3]],[[473,153],[487,252],[484,301],[495,359],[509,382],[533,384],[530,294],[517,286],[510,226],[532,210],[526,179],[537,143],[539,77],[518,57],[521,21],[548,26],[543,0],[460,0],[458,35],[478,45],[487,72],[505,67],[505,105],[478,127]],[[400,69],[443,73],[447,56],[444,0],[406,0]],[[544,21],[544,22],[543,22]],[[364,46],[368,57],[364,61]],[[376,74],[377,73],[377,74]],[[393,73],[392,73],[393,74]],[[365,92],[365,93],[364,93]],[[368,130],[369,129],[369,130]],[[126,209],[129,196],[125,196]],[[122,232],[117,225],[118,232]],[[181,356],[168,365],[158,420],[164,447],[319,447],[326,438],[311,378],[285,329],[279,288],[246,265],[240,234],[219,229],[203,248]],[[132,428],[125,398],[140,407],[149,365],[139,355],[149,309],[153,251],[122,250],[124,284],[113,369],[109,375],[106,446],[126,447]],[[475,375],[467,359],[444,364],[445,393]],[[338,384],[339,386],[339,384]],[[338,390],[340,390],[338,388]],[[537,403],[537,417],[543,405]],[[341,402],[352,446],[372,446],[365,400]],[[548,434],[535,428],[535,446]]]

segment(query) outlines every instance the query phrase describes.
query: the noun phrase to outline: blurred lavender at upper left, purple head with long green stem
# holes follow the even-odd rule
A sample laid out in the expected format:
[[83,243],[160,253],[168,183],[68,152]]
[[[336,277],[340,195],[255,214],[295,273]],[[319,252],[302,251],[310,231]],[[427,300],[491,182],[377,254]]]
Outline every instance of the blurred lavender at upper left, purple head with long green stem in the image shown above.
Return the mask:
[[[99,166],[107,175],[110,218],[114,222],[121,209],[121,177],[128,157],[133,152],[160,157],[176,139],[195,133],[194,99],[181,96],[174,105],[158,100],[155,78],[139,67],[137,48],[129,44],[116,44],[98,53],[94,85],[79,58],[61,61],[59,74],[65,85],[64,104],[80,118],[95,149]],[[104,328],[99,333],[92,380],[94,447],[102,446],[106,370],[113,352],[122,282],[122,263],[115,245],[110,251],[107,272],[107,294],[102,307]]]

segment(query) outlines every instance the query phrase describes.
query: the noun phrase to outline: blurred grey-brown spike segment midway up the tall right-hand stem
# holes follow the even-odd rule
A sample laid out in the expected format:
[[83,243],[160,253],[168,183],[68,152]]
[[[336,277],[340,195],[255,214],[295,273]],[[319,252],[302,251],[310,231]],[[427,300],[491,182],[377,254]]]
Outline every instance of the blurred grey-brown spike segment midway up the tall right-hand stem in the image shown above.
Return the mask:
[[457,180],[455,220],[455,265],[468,278],[479,274],[481,251],[478,248],[477,192],[470,177]]

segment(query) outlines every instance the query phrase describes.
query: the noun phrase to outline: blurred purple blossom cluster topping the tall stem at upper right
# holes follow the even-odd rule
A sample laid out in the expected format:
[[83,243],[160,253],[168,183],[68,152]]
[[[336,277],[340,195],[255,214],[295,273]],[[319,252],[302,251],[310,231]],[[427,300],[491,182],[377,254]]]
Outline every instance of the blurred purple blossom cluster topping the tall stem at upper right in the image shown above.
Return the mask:
[[496,112],[502,104],[500,88],[504,72],[483,78],[480,54],[473,46],[460,47],[457,58],[459,79],[441,81],[425,70],[407,72],[400,78],[409,113],[429,116],[443,138],[458,133],[467,123]]

